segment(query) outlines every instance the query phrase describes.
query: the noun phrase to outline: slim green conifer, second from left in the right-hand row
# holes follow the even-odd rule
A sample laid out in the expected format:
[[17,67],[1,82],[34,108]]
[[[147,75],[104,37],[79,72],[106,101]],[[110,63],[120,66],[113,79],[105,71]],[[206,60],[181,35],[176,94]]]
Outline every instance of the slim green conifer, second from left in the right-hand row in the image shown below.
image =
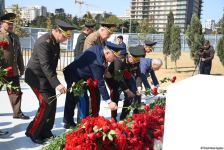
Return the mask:
[[177,72],[177,60],[181,55],[181,39],[180,39],[180,28],[175,24],[171,28],[171,45],[170,45],[170,55],[171,61],[175,62],[175,71]]

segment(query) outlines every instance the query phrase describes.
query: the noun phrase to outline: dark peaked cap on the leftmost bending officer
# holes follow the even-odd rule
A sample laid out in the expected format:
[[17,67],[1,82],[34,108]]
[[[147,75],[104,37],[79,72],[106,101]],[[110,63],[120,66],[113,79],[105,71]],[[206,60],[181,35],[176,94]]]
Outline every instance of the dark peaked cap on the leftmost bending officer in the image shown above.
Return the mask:
[[72,30],[75,29],[75,27],[73,27],[72,25],[68,24],[67,22],[64,22],[60,19],[56,19],[55,23],[57,25],[57,27],[59,28],[59,30],[62,32],[62,34],[66,37],[66,38],[70,38],[72,35]]

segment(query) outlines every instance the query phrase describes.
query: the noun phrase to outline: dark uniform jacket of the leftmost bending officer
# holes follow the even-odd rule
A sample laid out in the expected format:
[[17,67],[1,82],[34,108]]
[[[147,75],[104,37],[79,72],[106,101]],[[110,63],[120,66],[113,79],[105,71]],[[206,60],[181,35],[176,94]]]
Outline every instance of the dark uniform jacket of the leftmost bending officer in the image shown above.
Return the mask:
[[60,45],[51,33],[37,39],[28,62],[25,81],[40,91],[55,91],[60,84],[56,68],[60,55]]

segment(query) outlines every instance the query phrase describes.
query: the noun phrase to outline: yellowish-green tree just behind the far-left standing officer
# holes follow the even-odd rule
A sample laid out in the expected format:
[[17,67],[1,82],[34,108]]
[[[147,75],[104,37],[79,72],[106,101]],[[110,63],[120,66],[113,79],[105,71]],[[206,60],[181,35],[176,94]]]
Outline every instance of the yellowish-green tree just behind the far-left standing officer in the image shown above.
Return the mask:
[[13,24],[13,32],[19,37],[29,36],[29,33],[22,28],[25,20],[21,18],[21,8],[17,4],[13,5],[12,12],[16,14],[16,18]]

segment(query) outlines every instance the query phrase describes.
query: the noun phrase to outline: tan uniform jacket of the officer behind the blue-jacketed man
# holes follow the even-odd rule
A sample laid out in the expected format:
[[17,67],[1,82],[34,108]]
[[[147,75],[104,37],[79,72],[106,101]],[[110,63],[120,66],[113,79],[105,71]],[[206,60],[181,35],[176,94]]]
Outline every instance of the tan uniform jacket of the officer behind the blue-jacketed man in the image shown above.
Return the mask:
[[101,46],[106,45],[105,41],[100,40],[100,34],[98,31],[95,31],[86,37],[83,51],[85,51],[86,49],[90,48],[93,45],[101,45]]

